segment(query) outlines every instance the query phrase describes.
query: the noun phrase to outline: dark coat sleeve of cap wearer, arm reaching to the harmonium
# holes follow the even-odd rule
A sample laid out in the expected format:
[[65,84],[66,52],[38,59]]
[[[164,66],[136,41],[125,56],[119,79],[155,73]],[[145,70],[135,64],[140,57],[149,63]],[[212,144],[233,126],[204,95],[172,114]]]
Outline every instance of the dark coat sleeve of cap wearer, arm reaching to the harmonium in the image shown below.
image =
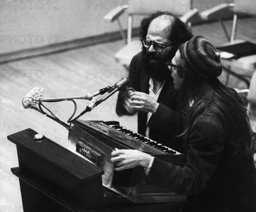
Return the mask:
[[180,195],[202,192],[212,176],[224,149],[224,131],[221,122],[213,116],[197,120],[189,136],[187,162],[182,168],[154,158],[147,183],[168,187]]

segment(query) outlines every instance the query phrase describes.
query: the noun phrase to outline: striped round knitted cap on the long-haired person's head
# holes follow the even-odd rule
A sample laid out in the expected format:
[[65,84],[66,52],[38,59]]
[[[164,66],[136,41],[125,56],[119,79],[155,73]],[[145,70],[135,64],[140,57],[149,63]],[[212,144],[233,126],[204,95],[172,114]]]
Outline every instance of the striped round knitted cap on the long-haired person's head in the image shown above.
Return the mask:
[[202,36],[195,36],[179,47],[181,64],[205,78],[221,75],[220,53]]

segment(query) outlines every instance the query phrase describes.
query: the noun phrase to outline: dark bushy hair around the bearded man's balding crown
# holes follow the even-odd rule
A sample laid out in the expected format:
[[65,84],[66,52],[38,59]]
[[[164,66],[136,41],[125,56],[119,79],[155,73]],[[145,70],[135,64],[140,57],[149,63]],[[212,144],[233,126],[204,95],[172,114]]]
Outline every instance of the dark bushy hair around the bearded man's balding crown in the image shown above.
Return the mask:
[[[148,26],[152,20],[161,16],[161,15],[168,15],[172,24],[170,24],[169,28],[169,40],[175,44],[175,48],[177,49],[180,44],[185,43],[190,38],[193,37],[192,32],[190,31],[189,27],[183,23],[176,15],[173,15],[171,12],[168,11],[157,11],[153,14],[149,15],[148,17],[143,18],[140,23],[140,38],[145,39],[148,33]],[[143,52],[146,51],[146,48],[142,47]]]

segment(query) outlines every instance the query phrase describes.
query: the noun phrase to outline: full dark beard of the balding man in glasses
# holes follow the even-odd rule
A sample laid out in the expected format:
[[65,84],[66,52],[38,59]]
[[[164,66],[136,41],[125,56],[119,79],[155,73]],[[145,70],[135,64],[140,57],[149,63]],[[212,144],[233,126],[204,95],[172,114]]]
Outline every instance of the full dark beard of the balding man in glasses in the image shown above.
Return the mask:
[[151,76],[151,78],[155,78],[158,81],[163,82],[167,75],[170,74],[169,69],[162,59],[158,59],[156,63],[151,63],[149,60],[149,55],[145,55],[145,65],[146,72]]

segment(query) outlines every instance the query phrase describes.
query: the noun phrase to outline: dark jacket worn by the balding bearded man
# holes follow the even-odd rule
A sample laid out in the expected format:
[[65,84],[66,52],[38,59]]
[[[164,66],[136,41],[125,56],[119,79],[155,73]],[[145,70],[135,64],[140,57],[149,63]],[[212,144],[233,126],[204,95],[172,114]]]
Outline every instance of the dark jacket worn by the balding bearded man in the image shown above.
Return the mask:
[[[133,87],[137,91],[148,94],[150,76],[145,70],[143,52],[132,58],[128,78],[130,80],[128,87]],[[123,106],[124,98],[124,90],[122,90],[119,92],[116,105],[116,113],[119,116],[129,115]],[[183,153],[182,139],[175,136],[180,134],[183,128],[181,116],[175,111],[176,99],[177,91],[174,90],[173,78],[170,74],[166,78],[166,82],[157,99],[160,105],[148,122],[148,127],[150,127],[149,138]],[[147,128],[147,114],[146,112],[138,111],[138,133],[142,135],[145,135]]]

